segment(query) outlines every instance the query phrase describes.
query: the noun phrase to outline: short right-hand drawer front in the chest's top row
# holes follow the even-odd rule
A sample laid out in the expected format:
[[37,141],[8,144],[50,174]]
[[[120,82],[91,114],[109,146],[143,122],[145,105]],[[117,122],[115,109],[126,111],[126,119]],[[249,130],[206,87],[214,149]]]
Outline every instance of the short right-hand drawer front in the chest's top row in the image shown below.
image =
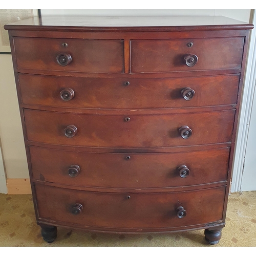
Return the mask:
[[[188,47],[193,42],[192,47]],[[244,37],[181,40],[131,40],[132,73],[172,72],[215,69],[239,69],[242,64]],[[194,56],[193,67],[185,64]],[[191,58],[187,58],[189,62]]]

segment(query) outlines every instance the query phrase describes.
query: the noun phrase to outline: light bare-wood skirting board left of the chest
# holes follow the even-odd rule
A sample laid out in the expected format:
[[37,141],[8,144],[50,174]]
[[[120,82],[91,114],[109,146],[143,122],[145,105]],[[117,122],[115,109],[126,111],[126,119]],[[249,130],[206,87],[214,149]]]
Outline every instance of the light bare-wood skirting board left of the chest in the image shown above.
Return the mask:
[[8,195],[30,195],[32,194],[29,179],[7,179]]

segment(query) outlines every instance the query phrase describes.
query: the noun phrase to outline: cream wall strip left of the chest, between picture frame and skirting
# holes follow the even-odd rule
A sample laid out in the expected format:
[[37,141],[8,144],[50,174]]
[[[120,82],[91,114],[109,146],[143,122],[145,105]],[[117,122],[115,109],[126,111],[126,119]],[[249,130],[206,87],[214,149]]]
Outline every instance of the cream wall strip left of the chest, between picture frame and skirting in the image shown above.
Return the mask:
[[0,55],[0,138],[7,178],[29,178],[12,56]]

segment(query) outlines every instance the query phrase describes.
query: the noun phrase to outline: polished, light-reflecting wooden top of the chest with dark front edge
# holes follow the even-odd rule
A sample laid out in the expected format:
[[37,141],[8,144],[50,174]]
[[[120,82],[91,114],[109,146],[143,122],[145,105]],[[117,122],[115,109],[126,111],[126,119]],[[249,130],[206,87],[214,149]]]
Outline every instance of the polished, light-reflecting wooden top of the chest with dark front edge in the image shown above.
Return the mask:
[[161,31],[252,29],[253,25],[224,16],[44,16],[5,25],[8,30]]

